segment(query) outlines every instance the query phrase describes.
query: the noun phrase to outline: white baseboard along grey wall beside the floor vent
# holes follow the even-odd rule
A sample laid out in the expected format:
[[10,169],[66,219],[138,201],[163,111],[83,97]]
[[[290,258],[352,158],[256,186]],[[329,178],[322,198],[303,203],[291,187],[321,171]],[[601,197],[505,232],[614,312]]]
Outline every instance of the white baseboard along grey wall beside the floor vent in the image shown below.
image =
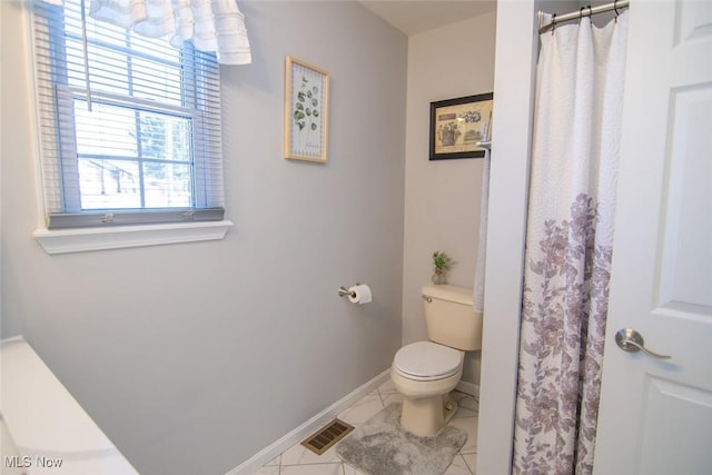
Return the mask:
[[226,475],[254,474],[259,469],[259,467],[270,462],[277,455],[281,454],[293,445],[301,442],[303,438],[316,432],[319,427],[328,423],[330,419],[336,417],[343,410],[347,409],[358,399],[360,399],[362,397],[364,397],[365,395],[367,395],[368,393],[373,392],[378,386],[384,384],[388,379],[389,375],[390,375],[390,368],[380,373],[378,376],[374,377],[366,384],[354,389],[352,393],[347,394],[342,399],[332,404],[329,407],[322,410],[319,414],[312,417],[309,420],[301,424],[299,427],[295,428],[289,434],[276,441],[274,444],[263,448],[257,454],[253,455],[250,458],[248,458],[237,467],[229,471]]

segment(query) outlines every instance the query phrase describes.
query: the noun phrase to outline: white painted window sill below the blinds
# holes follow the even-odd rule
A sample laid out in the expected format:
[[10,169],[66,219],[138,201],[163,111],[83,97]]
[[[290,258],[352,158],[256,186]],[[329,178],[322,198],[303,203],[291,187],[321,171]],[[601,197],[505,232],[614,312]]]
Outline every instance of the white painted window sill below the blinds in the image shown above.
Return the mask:
[[36,229],[32,237],[47,254],[55,255],[219,240],[231,227],[231,221],[222,220],[83,229]]

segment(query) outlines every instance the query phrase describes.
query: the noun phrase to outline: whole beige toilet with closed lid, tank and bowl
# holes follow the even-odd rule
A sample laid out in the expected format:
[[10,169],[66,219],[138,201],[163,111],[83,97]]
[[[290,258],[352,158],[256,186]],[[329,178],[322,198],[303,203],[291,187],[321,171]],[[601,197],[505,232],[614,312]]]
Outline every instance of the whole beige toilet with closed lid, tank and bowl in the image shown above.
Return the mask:
[[482,317],[473,313],[469,288],[426,285],[423,303],[429,342],[400,348],[390,366],[390,379],[403,395],[400,426],[428,437],[457,410],[449,392],[462,377],[465,352],[482,348]]

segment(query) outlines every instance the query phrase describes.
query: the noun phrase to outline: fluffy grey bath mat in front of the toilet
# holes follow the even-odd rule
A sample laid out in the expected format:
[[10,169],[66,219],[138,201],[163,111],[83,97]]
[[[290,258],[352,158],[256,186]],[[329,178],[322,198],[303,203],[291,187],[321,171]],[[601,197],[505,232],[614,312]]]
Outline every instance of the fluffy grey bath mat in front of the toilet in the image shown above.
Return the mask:
[[339,442],[336,453],[368,475],[442,475],[467,442],[459,427],[418,437],[403,431],[399,419],[400,403],[389,404]]

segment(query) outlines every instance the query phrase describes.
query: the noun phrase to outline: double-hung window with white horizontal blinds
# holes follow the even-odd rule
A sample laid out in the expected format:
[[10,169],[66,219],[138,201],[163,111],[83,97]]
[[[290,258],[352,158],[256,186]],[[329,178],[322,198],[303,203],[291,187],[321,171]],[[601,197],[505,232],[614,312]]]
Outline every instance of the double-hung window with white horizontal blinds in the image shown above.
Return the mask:
[[215,55],[85,26],[80,4],[33,16],[48,229],[221,220]]

